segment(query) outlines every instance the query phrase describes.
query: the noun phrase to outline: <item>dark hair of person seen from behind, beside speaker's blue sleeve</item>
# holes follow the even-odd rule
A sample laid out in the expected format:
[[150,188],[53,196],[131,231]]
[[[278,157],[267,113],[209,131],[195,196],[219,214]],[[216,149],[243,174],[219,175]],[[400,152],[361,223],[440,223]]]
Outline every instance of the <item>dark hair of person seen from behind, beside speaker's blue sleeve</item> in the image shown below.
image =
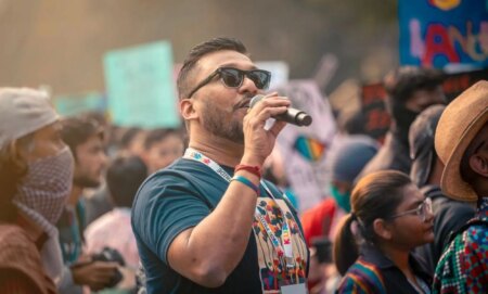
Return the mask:
[[118,156],[106,170],[106,186],[115,206],[132,207],[133,196],[147,177],[147,167],[139,156]]

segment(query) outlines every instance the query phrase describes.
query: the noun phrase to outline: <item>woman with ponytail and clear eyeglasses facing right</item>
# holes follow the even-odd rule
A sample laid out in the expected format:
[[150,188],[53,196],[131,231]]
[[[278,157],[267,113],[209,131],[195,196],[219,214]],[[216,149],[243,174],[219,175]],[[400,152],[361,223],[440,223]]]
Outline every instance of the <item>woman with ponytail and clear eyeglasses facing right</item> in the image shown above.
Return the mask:
[[431,199],[403,172],[362,178],[334,242],[336,293],[431,293],[432,273],[412,250],[434,240],[433,221]]

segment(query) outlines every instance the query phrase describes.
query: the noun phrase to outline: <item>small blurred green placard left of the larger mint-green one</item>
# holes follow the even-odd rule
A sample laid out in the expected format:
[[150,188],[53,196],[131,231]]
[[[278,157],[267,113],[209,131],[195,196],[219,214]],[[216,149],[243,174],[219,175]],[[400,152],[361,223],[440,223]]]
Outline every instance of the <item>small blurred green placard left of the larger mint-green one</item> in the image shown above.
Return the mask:
[[73,116],[87,112],[106,111],[106,97],[102,93],[82,93],[57,95],[53,100],[56,111],[63,116]]

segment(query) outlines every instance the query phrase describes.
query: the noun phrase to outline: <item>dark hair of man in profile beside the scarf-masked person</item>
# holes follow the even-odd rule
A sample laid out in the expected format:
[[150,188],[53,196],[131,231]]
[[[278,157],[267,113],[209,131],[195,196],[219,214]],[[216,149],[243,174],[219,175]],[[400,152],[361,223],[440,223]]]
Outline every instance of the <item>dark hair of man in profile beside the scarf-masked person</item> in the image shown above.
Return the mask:
[[103,140],[103,128],[94,119],[85,117],[68,117],[61,120],[63,126],[61,138],[72,150],[76,159],[76,148],[88,141],[93,136]]

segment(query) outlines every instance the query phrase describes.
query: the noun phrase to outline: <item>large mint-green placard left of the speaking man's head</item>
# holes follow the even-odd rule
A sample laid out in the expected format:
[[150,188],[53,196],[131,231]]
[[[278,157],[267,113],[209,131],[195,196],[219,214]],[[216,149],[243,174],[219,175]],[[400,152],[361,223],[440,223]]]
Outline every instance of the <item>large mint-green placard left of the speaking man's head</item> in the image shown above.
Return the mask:
[[180,126],[169,42],[111,51],[104,56],[104,69],[114,125]]

